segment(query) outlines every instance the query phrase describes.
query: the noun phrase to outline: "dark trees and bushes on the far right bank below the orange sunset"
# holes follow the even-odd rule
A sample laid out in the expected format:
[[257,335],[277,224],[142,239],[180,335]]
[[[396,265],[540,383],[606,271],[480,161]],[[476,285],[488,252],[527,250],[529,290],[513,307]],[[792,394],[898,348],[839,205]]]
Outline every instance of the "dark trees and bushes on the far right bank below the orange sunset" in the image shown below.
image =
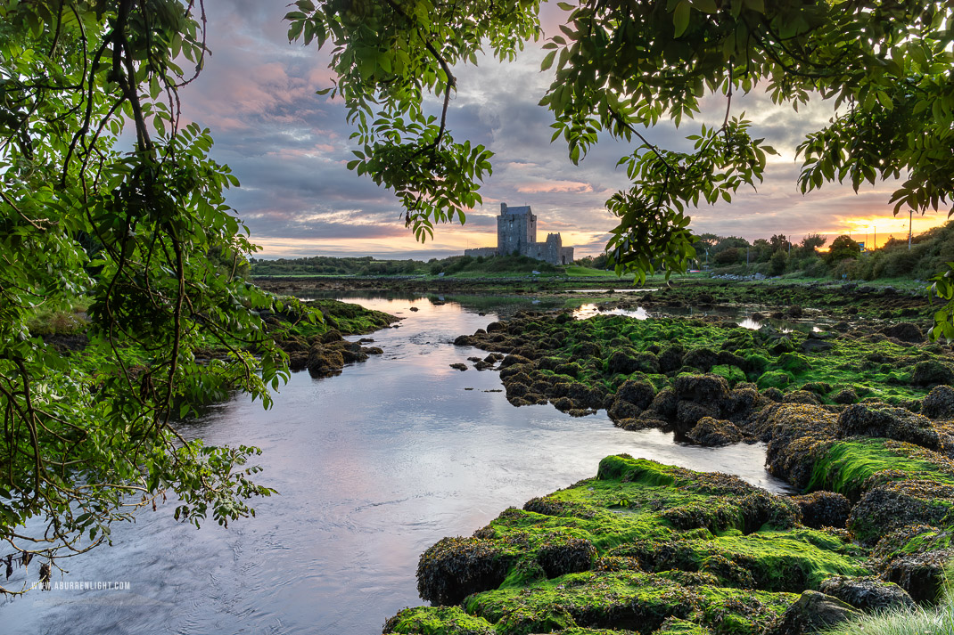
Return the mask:
[[913,236],[892,238],[878,249],[862,250],[851,236],[835,238],[827,252],[819,252],[826,239],[818,234],[798,243],[778,234],[749,242],[737,236],[698,236],[695,252],[699,267],[725,274],[764,276],[835,277],[873,280],[907,277],[926,280],[945,262],[954,260],[954,221]]

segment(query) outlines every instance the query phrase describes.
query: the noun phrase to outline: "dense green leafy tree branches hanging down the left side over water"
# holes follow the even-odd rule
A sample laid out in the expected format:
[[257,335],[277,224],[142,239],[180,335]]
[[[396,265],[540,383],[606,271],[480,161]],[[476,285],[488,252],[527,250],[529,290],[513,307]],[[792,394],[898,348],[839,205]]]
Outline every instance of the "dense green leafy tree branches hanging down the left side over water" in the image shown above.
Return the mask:
[[[257,448],[172,425],[235,388],[267,405],[287,372],[252,311],[271,297],[236,275],[255,249],[224,201],[238,180],[178,125],[204,19],[176,0],[0,3],[0,542],[46,579],[167,493],[195,524],[272,493],[250,481]],[[31,331],[76,297],[93,372]],[[227,358],[198,364],[210,343]]]

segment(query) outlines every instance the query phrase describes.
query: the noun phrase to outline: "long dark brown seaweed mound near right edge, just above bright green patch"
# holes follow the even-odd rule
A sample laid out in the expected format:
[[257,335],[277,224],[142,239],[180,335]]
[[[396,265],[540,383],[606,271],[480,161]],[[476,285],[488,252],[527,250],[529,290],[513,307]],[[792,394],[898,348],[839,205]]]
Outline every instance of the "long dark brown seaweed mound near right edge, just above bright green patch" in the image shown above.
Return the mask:
[[884,437],[937,449],[938,431],[923,415],[904,408],[856,403],[845,408],[838,418],[838,436]]

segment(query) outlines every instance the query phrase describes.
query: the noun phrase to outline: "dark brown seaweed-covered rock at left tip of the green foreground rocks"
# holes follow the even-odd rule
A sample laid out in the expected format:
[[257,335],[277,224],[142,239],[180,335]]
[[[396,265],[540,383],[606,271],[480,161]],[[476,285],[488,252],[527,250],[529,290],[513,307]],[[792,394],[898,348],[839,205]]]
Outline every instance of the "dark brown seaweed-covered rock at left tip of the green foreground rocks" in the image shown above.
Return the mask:
[[418,593],[434,604],[460,604],[504,582],[514,560],[500,543],[479,538],[445,538],[421,554]]

